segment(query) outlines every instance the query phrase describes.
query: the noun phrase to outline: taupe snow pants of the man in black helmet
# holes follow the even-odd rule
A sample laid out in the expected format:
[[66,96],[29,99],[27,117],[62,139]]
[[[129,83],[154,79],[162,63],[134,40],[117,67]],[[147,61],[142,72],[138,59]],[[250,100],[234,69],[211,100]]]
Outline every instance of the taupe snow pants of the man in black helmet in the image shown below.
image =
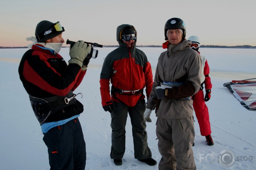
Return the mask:
[[159,170],[196,170],[192,144],[195,138],[193,117],[158,118],[158,150],[162,156]]

